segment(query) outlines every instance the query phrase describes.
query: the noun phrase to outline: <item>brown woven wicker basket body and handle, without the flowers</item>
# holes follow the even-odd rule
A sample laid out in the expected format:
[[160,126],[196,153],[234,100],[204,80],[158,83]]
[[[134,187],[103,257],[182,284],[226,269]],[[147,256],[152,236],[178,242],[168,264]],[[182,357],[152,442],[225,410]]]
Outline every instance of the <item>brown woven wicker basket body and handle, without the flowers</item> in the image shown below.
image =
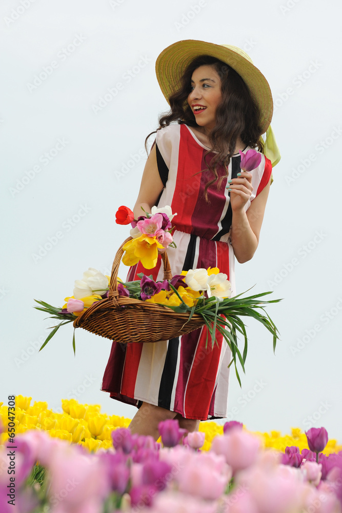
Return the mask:
[[[189,313],[176,313],[172,308],[146,303],[145,301],[119,296],[117,272],[122,259],[123,246],[119,247],[113,262],[108,298],[95,301],[74,321],[96,335],[126,344],[128,342],[158,342],[178,337],[205,324],[202,315],[194,314],[189,322]],[[166,252],[162,255],[164,279],[172,278]]]

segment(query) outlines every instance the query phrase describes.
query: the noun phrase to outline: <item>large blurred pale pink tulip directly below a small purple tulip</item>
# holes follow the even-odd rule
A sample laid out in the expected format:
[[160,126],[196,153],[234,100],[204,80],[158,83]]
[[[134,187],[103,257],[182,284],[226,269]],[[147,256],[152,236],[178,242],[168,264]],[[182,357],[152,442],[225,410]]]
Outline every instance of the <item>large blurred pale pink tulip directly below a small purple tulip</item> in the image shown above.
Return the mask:
[[211,444],[211,450],[216,454],[223,454],[234,473],[255,462],[259,447],[257,437],[236,428],[222,437],[216,436]]

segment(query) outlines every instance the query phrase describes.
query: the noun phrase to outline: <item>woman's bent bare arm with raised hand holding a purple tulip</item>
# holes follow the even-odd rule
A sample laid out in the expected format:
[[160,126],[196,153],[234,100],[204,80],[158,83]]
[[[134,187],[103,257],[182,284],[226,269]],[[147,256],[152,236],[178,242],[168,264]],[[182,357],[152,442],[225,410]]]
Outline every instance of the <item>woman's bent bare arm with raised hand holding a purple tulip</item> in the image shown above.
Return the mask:
[[[245,180],[245,178],[247,180]],[[267,186],[254,198],[247,212],[244,205],[253,191],[250,172],[242,172],[234,179],[230,198],[232,205],[231,243],[236,260],[243,264],[250,260],[258,247],[261,224],[263,223],[271,179]]]

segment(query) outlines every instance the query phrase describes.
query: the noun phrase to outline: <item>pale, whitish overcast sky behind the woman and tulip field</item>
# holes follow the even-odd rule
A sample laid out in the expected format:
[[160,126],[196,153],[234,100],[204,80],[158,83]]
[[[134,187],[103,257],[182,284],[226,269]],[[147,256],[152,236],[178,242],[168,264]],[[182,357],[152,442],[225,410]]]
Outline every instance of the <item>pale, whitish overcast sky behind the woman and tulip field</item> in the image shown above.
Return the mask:
[[[156,57],[175,41],[197,39],[244,48],[265,74],[282,154],[258,250],[236,264],[239,292],[255,284],[251,293],[284,298],[268,309],[281,341],[274,356],[271,335],[248,322],[246,376],[240,389],[231,372],[229,419],[266,431],[324,425],[342,441],[341,14],[338,3],[318,0],[3,0],[0,400],[23,394],[60,411],[62,398],[76,397],[134,415],[100,391],[109,340],[77,329],[74,357],[68,325],[38,352],[50,324],[33,298],[62,306],[88,267],[110,271],[128,235],[115,211],[133,207],[146,161],[138,152],[167,109]],[[30,91],[52,61],[51,74]],[[118,82],[123,89],[95,114],[92,106]],[[65,146],[54,155],[58,140]],[[132,155],[138,162],[122,172]],[[34,259],[49,240],[52,249]]]

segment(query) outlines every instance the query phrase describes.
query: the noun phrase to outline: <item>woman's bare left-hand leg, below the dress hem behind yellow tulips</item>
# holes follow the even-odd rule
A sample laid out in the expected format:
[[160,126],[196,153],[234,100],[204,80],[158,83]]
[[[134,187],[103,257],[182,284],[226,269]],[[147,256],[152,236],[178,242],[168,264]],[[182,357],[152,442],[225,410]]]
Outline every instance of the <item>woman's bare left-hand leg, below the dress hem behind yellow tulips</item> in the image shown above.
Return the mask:
[[131,433],[138,435],[151,435],[154,440],[158,440],[158,424],[163,420],[174,419],[176,413],[154,404],[143,403],[135,413],[129,428]]

